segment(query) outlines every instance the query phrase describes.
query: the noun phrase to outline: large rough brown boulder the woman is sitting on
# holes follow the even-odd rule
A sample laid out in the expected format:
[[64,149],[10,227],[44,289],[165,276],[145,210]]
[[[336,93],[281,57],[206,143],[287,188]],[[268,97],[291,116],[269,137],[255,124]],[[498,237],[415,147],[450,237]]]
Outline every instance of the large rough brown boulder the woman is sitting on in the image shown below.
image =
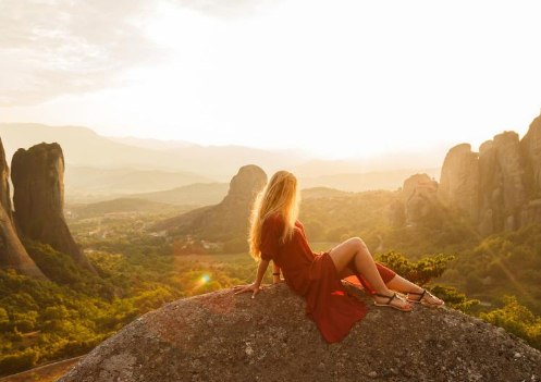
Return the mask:
[[[359,293],[362,295],[362,293]],[[362,298],[362,297],[361,297]],[[285,284],[177,300],[103,342],[61,382],[539,381],[541,354],[448,308],[373,307],[328,345]]]

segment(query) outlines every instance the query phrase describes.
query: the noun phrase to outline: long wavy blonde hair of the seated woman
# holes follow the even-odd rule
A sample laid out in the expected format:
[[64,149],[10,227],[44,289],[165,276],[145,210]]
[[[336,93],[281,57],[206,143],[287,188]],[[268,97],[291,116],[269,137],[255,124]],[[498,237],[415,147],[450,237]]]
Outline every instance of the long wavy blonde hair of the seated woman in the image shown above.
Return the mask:
[[272,175],[257,195],[251,208],[248,244],[254,259],[261,258],[261,227],[268,217],[276,213],[283,218],[285,224],[280,241],[281,243],[291,241],[298,217],[299,201],[300,195],[295,175],[287,171],[279,171]]

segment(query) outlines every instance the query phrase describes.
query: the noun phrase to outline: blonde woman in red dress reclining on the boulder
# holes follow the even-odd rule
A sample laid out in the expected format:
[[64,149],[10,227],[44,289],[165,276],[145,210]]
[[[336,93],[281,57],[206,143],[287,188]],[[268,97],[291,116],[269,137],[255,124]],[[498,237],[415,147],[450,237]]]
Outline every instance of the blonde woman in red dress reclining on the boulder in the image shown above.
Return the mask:
[[[276,172],[258,194],[250,219],[248,243],[251,256],[259,261],[256,281],[238,285],[235,293],[261,289],[261,280],[273,262],[273,280],[280,271],[287,285],[306,298],[306,312],[324,340],[341,341],[367,311],[362,301],[345,293],[341,280],[355,275],[371,293],[374,305],[411,311],[410,303],[430,307],[444,303],[428,291],[374,262],[365,243],[353,237],[323,254],[315,254],[306,239],[298,217],[299,193],[296,177],[287,171]],[[407,298],[393,291],[405,293]]]

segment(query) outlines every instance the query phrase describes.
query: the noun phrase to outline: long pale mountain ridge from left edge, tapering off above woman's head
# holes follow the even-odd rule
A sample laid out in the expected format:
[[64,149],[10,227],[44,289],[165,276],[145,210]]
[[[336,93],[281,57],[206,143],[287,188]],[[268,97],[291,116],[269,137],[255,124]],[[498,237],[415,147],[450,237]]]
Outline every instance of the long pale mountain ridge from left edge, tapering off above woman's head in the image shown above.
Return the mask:
[[179,141],[173,141],[173,147],[167,149],[167,141],[108,138],[79,126],[2,123],[0,137],[8,162],[17,148],[57,141],[64,150],[66,168],[186,171],[216,181],[229,181],[246,163],[258,163],[267,171],[276,171],[307,160],[306,155],[293,150],[270,151],[242,146],[187,144],[180,147]]

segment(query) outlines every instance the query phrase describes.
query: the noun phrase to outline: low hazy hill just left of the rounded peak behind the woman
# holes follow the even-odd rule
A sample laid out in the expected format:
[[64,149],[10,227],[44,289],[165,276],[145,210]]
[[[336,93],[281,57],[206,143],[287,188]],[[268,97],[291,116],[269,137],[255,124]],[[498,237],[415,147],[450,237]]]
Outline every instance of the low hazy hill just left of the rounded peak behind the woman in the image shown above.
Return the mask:
[[134,194],[128,197],[170,205],[216,205],[228,194],[228,183],[195,183],[156,193]]

